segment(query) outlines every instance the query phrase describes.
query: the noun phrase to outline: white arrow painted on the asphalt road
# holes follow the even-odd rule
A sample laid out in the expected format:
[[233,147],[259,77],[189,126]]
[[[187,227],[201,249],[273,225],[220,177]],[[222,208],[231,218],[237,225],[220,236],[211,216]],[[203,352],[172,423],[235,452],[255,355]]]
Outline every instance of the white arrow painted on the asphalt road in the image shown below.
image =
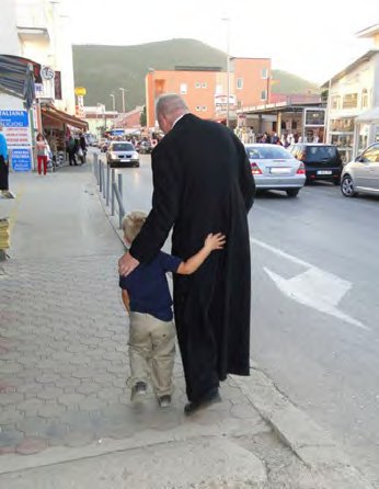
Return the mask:
[[257,239],[250,238],[251,243],[264,248],[280,258],[291,261],[308,270],[291,278],[284,278],[272,270],[264,268],[267,275],[275,282],[279,291],[284,295],[297,300],[299,304],[312,307],[320,312],[329,314],[352,326],[370,331],[370,328],[363,325],[357,319],[352,318],[337,308],[338,303],[345,294],[352,288],[352,283],[337,275],[325,272],[324,270],[313,266],[303,260],[286,253]]

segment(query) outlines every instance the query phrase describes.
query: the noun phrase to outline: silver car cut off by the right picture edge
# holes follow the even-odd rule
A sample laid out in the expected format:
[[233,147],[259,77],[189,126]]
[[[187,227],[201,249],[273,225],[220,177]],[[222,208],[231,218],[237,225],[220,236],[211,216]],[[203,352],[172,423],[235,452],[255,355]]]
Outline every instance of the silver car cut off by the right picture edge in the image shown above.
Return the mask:
[[358,193],[379,194],[379,143],[366,148],[354,161],[345,164],[341,177],[345,197]]

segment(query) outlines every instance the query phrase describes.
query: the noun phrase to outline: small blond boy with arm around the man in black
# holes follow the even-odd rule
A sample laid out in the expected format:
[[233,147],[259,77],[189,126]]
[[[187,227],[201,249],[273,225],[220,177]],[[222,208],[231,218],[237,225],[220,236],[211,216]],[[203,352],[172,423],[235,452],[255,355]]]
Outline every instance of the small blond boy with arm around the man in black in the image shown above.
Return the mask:
[[[123,220],[126,244],[140,231],[147,215],[133,212]],[[166,272],[194,273],[214,250],[223,248],[220,232],[208,235],[204,247],[186,261],[160,251],[150,263],[141,263],[128,276],[119,277],[122,297],[129,314],[130,400],[147,394],[149,366],[154,393],[161,408],[171,403],[172,372],[175,357],[175,327]]]

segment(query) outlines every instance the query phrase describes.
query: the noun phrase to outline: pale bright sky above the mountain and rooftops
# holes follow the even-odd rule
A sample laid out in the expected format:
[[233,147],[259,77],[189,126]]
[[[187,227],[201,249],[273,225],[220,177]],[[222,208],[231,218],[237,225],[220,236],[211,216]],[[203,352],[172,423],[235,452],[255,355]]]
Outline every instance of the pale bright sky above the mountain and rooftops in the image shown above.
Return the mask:
[[[72,44],[134,45],[187,37],[317,83],[371,47],[378,0],[66,0]],[[348,4],[351,3],[351,5]],[[229,21],[222,21],[229,19]],[[230,34],[228,36],[228,24]]]

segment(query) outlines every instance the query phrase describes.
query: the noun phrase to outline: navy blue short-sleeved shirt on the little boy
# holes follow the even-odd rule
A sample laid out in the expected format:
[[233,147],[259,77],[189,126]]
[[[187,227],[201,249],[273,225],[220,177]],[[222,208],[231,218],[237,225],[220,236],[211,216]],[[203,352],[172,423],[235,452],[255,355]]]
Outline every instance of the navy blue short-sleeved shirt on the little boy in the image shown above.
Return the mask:
[[172,298],[166,272],[176,272],[182,260],[160,251],[150,263],[141,263],[129,275],[119,277],[119,286],[127,291],[130,310],[172,320]]

